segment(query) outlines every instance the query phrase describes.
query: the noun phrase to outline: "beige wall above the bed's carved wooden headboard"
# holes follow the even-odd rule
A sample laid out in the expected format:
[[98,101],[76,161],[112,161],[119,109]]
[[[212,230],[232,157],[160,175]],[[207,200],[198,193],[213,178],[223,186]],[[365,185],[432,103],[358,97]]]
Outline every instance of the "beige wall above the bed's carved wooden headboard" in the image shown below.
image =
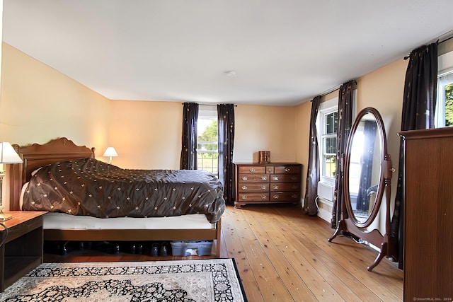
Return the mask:
[[2,44],[0,139],[45,144],[68,137],[76,144],[104,147],[110,101],[80,83]]

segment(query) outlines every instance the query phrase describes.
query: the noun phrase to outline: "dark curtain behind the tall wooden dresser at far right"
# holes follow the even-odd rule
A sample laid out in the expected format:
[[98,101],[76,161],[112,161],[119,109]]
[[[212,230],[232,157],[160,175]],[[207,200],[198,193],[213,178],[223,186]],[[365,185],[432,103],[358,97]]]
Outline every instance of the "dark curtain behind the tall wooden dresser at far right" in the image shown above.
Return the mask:
[[[437,42],[413,50],[404,83],[401,131],[434,128],[434,112],[437,99]],[[404,146],[400,141],[398,185],[396,187],[395,210],[391,219],[391,244],[398,245],[398,267],[403,268],[403,207],[404,207]],[[414,201],[416,202],[416,201]]]

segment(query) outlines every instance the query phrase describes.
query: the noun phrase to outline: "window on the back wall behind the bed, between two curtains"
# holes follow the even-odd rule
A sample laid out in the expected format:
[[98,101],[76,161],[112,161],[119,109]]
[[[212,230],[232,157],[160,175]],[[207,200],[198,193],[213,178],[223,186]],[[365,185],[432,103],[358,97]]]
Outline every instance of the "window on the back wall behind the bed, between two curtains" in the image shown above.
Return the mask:
[[197,121],[197,169],[219,175],[217,106],[200,105]]

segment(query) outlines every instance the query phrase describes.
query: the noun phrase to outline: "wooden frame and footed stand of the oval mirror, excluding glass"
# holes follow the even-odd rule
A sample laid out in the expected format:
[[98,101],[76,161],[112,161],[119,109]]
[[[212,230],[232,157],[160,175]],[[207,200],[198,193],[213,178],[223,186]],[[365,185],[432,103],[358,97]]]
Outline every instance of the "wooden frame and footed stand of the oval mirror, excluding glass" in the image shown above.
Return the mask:
[[[352,212],[352,207],[350,205],[350,195],[349,195],[349,163],[350,163],[350,144],[352,144],[352,137],[353,134],[357,131],[357,125],[362,120],[362,117],[368,113],[374,115],[377,121],[377,125],[379,130],[381,131],[381,139],[382,139],[382,162],[381,162],[381,175],[380,175],[380,182],[378,186],[377,197],[374,200],[374,207],[372,210],[372,214],[369,215],[369,218],[360,223],[357,221],[354,214],[350,215],[349,213]],[[346,167],[346,169],[345,169]],[[346,147],[346,153],[342,154],[342,161],[340,165],[340,172],[341,172],[341,185],[343,185],[343,202],[340,205],[341,213],[340,219],[338,220],[338,225],[336,228],[335,233],[333,236],[328,239],[329,242],[332,242],[336,236],[340,234],[354,236],[352,238],[359,239],[356,240],[358,243],[369,243],[377,248],[379,248],[379,254],[377,255],[376,259],[367,267],[369,272],[372,271],[376,265],[381,262],[382,258],[384,257],[393,257],[396,255],[396,246],[394,243],[391,243],[390,240],[390,182],[391,182],[391,173],[394,169],[391,167],[391,160],[389,154],[387,154],[387,147],[386,147],[386,133],[384,128],[384,123],[382,122],[382,117],[379,112],[374,108],[365,108],[361,110],[354,123],[352,124],[351,132],[348,137],[348,144]],[[346,195],[347,192],[347,195]],[[385,216],[385,234],[382,235],[379,230],[376,228],[372,231],[367,229],[368,226],[376,219],[377,212],[379,211],[382,205],[382,197],[386,199],[386,216]],[[379,197],[379,199],[378,199]],[[348,204],[348,206],[346,206]],[[349,211],[349,212],[348,212]]]

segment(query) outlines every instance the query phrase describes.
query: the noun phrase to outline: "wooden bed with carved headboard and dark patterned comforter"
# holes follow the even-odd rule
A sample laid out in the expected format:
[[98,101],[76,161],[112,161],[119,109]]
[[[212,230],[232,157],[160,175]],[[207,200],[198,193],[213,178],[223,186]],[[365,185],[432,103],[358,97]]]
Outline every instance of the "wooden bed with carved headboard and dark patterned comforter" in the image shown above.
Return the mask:
[[[18,152],[19,156],[23,158],[23,163],[9,165],[10,176],[10,209],[11,210],[22,210],[37,209],[45,210],[49,209],[35,205],[30,208],[30,202],[28,206],[22,204],[25,200],[24,195],[27,194],[28,185],[30,180],[41,173],[43,175],[48,174],[42,173],[42,167],[52,167],[50,169],[55,170],[55,165],[71,165],[69,168],[74,168],[74,165],[88,165],[87,170],[78,171],[77,173],[91,173],[93,169],[99,168],[99,165],[109,169],[119,169],[113,165],[107,163],[100,163],[97,161],[94,155],[95,149],[88,149],[86,146],[76,146],[73,141],[63,137],[52,140],[47,144],[32,144],[29,146],[13,146]],[[93,168],[94,167],[94,168]],[[60,168],[56,168],[59,170]],[[61,169],[60,169],[61,170]],[[121,169],[120,169],[121,170]],[[131,170],[127,170],[129,173]],[[138,170],[142,173],[146,170]],[[155,170],[149,170],[155,171]],[[168,170],[165,170],[168,174]],[[190,173],[188,170],[176,170],[183,171],[183,173]],[[195,170],[194,170],[195,171]],[[55,172],[55,171],[54,171]],[[33,174],[33,176],[32,176]],[[77,176],[77,175],[76,175]],[[90,175],[92,176],[92,175]],[[167,175],[168,176],[168,175]],[[165,177],[167,177],[165,176]],[[55,177],[55,175],[53,175]],[[63,176],[59,176],[63,177]],[[67,176],[65,176],[67,177]],[[171,174],[169,178],[175,178],[175,175]],[[188,175],[185,175],[184,179],[187,179]],[[48,179],[47,179],[48,180]],[[51,179],[52,180],[52,179]],[[42,180],[41,180],[42,181]],[[71,178],[69,182],[77,182],[76,178]],[[99,181],[96,178],[95,181]],[[217,180],[218,181],[218,180]],[[127,182],[123,180],[122,182]],[[163,183],[168,182],[168,178],[159,178],[157,182]],[[143,183],[143,181],[142,181]],[[184,182],[185,183],[185,182]],[[86,185],[86,184],[82,184]],[[96,190],[102,185],[99,182],[95,182]],[[187,185],[187,184],[185,184]],[[88,187],[88,185],[86,185]],[[103,187],[104,190],[105,187]],[[57,186],[55,186],[57,189]],[[124,189],[123,189],[124,190]],[[132,189],[131,189],[132,190]],[[137,190],[136,188],[134,190]],[[156,190],[156,188],[154,188]],[[160,190],[160,189],[159,189]],[[173,186],[173,191],[177,191]],[[85,190],[88,192],[88,190]],[[110,190],[111,191],[111,190]],[[209,191],[209,190],[208,190]],[[179,206],[173,206],[176,214],[164,214],[161,217],[159,212],[161,206],[164,204],[162,201],[159,206],[154,205],[153,207],[146,207],[147,211],[141,209],[137,211],[137,214],[133,214],[134,210],[139,208],[132,207],[129,209],[126,215],[117,213],[117,207],[119,206],[115,198],[117,197],[114,192],[104,195],[103,204],[98,202],[96,207],[92,209],[86,209],[90,207],[79,207],[78,209],[71,208],[74,204],[64,205],[61,207],[57,205],[59,209],[50,209],[50,211],[56,211],[47,213],[43,216],[43,229],[44,229],[44,240],[52,241],[161,241],[161,240],[214,240],[213,250],[214,255],[219,257],[220,251],[220,238],[221,238],[221,216],[224,211],[224,199],[222,197],[222,188],[219,186],[214,190],[215,194],[219,196],[215,197],[214,202],[208,203],[205,207],[211,208],[210,213],[204,214],[200,209],[189,211],[189,214],[185,214],[183,210],[179,209]],[[30,193],[30,192],[28,192]],[[212,194],[213,192],[210,192]],[[90,193],[87,193],[90,195]],[[134,194],[133,192],[131,195]],[[215,195],[214,194],[214,195]],[[88,196],[87,195],[87,196]],[[196,202],[190,202],[188,199],[196,199],[201,194],[187,195],[185,200],[186,206],[183,208],[190,208],[191,204]],[[89,197],[86,197],[89,198]],[[160,199],[166,199],[166,197]],[[63,198],[64,199],[64,198]],[[115,209],[105,208],[105,204],[108,204],[108,200],[114,200]],[[189,203],[187,203],[189,202]],[[190,206],[187,206],[189,204]],[[55,203],[54,203],[55,205]],[[124,205],[124,203],[123,203]],[[79,205],[80,206],[80,205]],[[141,204],[140,207],[145,207]],[[159,208],[159,209],[156,209]],[[176,209],[178,208],[178,209]],[[101,211],[102,210],[102,211]],[[142,211],[143,210],[143,211]],[[155,214],[150,214],[155,210]],[[63,213],[59,213],[62,211]],[[68,214],[68,212],[73,212]],[[74,215],[75,213],[79,215]],[[101,213],[100,213],[101,212]],[[159,213],[158,213],[159,212]],[[94,213],[94,215],[93,215]],[[143,214],[144,213],[144,214]],[[195,214],[193,214],[195,213]],[[93,215],[93,216],[89,216]],[[159,217],[155,217],[159,216]]]

